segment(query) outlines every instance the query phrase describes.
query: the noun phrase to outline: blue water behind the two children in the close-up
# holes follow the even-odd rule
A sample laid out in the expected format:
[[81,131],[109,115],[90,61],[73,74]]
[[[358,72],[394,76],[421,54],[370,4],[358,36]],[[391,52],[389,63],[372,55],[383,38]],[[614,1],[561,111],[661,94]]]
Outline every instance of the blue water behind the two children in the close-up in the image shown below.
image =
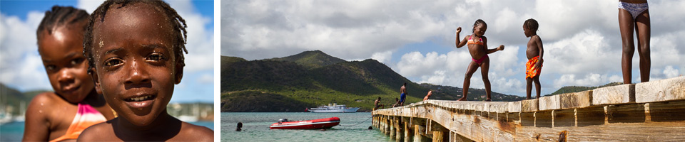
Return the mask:
[[[188,122],[214,130],[213,121]],[[0,125],[0,141],[21,141],[24,137],[24,122],[11,122]]]

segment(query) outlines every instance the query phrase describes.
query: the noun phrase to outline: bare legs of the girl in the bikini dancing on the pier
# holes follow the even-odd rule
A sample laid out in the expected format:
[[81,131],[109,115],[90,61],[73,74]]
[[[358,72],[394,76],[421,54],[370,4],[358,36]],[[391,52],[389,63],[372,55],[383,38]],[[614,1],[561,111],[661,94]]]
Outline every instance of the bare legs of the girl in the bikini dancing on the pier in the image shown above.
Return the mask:
[[[483,60],[482,64],[480,65],[480,72],[483,77],[483,83],[485,84],[485,94],[487,99],[485,101],[490,101],[490,80],[487,78],[487,71],[489,70],[490,66],[490,59],[487,58]],[[469,86],[471,85],[471,76],[473,76],[473,73],[478,70],[479,65],[471,61],[469,64],[469,68],[466,70],[466,75],[464,75],[464,87],[462,88],[462,98],[458,99],[458,101],[466,101],[467,100],[467,94],[469,94]]]

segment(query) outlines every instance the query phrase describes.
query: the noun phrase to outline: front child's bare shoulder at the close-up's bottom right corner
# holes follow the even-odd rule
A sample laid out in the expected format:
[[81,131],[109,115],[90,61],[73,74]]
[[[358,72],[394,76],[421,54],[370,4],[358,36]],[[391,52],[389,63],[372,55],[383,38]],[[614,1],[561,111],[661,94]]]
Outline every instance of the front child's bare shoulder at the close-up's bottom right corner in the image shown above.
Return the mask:
[[214,131],[204,126],[197,126],[183,122],[181,133],[178,133],[181,141],[214,141]]

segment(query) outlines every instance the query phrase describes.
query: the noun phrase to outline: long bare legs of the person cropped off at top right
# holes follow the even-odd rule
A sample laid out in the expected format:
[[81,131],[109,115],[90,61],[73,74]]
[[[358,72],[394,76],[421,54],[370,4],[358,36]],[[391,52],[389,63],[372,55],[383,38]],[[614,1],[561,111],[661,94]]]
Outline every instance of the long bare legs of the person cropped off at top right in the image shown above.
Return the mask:
[[621,39],[623,42],[623,57],[621,58],[623,83],[631,84],[632,60],[635,53],[633,29],[637,32],[637,44],[639,46],[640,80],[641,82],[649,82],[649,67],[651,67],[651,57],[649,55],[649,38],[651,37],[649,10],[640,13],[635,21],[633,21],[633,17],[628,11],[619,9],[619,28],[621,29]]

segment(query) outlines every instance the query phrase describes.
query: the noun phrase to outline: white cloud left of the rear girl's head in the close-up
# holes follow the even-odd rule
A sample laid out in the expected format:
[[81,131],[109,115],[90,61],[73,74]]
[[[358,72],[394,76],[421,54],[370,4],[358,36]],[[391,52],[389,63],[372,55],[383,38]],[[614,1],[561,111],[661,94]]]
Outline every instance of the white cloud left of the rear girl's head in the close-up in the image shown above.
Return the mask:
[[17,16],[0,14],[0,82],[22,91],[51,89],[38,54],[35,34],[44,14],[29,12],[26,21],[21,21]]

